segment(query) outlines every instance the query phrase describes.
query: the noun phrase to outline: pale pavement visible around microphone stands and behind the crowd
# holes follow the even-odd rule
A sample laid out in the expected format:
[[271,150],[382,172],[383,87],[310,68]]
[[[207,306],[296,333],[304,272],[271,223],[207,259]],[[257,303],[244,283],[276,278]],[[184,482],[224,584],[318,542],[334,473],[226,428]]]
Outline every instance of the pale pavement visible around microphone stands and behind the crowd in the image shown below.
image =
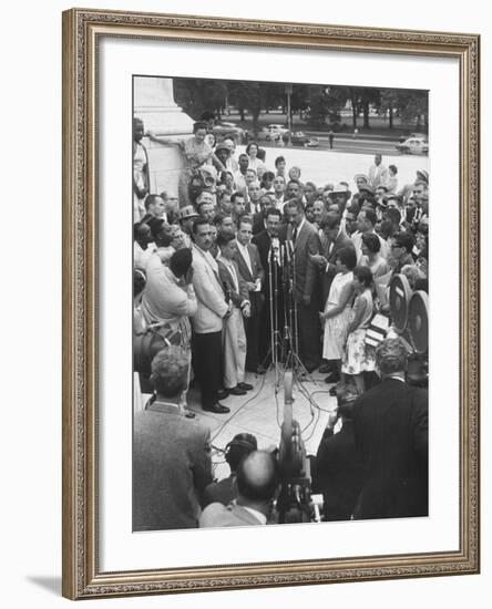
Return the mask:
[[[245,146],[238,146],[236,156],[244,148]],[[353,192],[353,176],[368,172],[376,152],[377,148],[366,155],[296,147],[268,147],[266,148],[266,165],[268,168],[274,168],[275,158],[283,155],[286,158],[287,167],[297,165],[301,168],[301,182],[310,180],[317,186],[348,182]],[[387,166],[389,164],[397,165],[399,188],[414,182],[417,169],[429,171],[429,158],[424,156],[388,158],[383,156],[382,163]],[[303,430],[303,438],[308,454],[316,454],[327,424],[328,413],[337,405],[336,398],[328,394],[331,385],[327,385],[324,378],[325,375],[315,372],[309,380],[297,383],[294,388],[294,417]],[[230,413],[226,415],[204,412],[199,405],[198,390],[192,388],[188,392],[189,409],[196,413],[196,420],[211,430],[212,444],[215,448],[213,455],[214,475],[218,478],[227,476],[229,473],[221,451],[237,433],[254,434],[260,448],[278,445],[280,440],[284,413],[283,373],[279,374],[278,383],[273,370],[263,376],[247,373],[246,382],[254,385],[253,391],[244,396],[229,396],[222,401],[230,409]],[[147,398],[150,395],[144,395],[144,403]]]

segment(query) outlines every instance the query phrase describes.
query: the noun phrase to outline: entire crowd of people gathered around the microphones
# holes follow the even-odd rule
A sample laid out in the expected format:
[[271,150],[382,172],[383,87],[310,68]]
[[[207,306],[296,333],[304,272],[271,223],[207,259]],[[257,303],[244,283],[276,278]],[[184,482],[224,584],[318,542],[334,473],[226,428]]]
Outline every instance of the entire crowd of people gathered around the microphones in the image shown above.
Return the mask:
[[[186,394],[193,379],[202,409],[226,414],[222,401],[253,390],[246,372],[267,371],[271,332],[289,324],[278,256],[286,244],[303,369],[327,374],[334,395],[358,396],[330,417],[314,464],[326,518],[427,514],[427,392],[404,382],[400,339],[371,345],[366,338],[376,312],[390,318],[391,277],[402,273],[428,291],[428,172],[399,185],[398,167],[376,154],[366,174],[316,185],[284,156],[271,163],[254,142],[236,157],[232,140],[215,143],[207,124],[195,123],[186,140],[147,134],[182,155],[173,197],[150,192],[144,133],[135,118],[134,332],[151,329],[163,349],[150,358],[153,399],[135,415],[134,529],[273,522],[281,483],[274,454],[258,451],[254,437],[235,437],[232,478],[217,493],[209,434],[187,420]],[[382,382],[370,388],[375,372]],[[335,423],[342,431],[334,435]],[[332,471],[338,445],[347,454]]]

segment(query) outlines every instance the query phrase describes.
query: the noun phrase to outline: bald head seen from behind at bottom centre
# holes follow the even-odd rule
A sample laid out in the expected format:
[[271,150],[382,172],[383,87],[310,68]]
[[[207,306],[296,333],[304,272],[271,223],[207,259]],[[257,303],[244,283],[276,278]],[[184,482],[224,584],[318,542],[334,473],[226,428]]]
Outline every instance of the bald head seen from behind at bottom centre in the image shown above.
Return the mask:
[[254,451],[239,463],[236,483],[242,505],[268,504],[278,486],[277,460],[266,451]]

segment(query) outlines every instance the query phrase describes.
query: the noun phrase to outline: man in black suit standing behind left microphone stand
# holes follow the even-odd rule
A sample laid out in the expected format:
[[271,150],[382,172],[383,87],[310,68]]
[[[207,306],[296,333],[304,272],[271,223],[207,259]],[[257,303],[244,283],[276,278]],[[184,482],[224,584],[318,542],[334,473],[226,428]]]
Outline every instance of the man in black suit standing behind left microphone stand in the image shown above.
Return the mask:
[[[262,287],[262,293],[264,295],[265,302],[259,316],[258,330],[258,354],[260,367],[262,364],[267,367],[271,361],[271,354],[268,355],[271,344],[270,307],[277,311],[275,326],[280,332],[284,329],[284,300],[281,295],[281,267],[279,258],[279,249],[283,245],[283,239],[279,238],[279,231],[281,228],[280,219],[280,210],[275,207],[270,207],[266,211],[266,229],[253,237],[253,244],[258,248],[259,261],[265,272]],[[270,291],[271,299],[275,300],[275,302],[270,301]]]

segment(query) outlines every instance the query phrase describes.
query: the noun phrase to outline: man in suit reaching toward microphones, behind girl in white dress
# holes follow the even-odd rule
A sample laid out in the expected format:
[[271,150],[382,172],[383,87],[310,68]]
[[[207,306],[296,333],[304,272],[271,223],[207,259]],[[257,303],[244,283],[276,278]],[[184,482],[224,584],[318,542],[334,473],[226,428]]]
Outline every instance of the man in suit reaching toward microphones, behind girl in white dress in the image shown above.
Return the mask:
[[321,281],[320,311],[325,309],[331,281],[337,273],[335,261],[337,259],[338,251],[344,247],[350,247],[353,250],[356,249],[353,241],[341,228],[339,214],[329,211],[321,220],[321,254],[318,256],[310,256],[311,261],[319,269],[319,277]]

